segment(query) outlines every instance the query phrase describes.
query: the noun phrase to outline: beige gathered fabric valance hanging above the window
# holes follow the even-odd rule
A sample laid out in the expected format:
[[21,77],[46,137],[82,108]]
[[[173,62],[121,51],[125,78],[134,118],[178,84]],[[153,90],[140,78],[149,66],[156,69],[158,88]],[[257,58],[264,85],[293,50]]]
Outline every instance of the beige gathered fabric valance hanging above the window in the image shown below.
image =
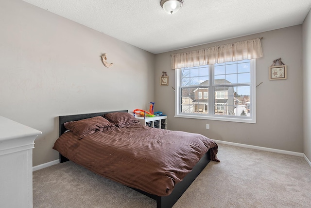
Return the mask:
[[172,54],[172,69],[262,57],[260,38]]

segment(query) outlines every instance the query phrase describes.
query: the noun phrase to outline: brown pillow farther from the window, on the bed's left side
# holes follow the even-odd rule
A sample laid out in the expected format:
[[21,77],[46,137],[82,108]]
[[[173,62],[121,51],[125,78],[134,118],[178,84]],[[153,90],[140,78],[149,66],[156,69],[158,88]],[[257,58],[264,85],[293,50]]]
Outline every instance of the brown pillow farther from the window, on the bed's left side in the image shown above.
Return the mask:
[[64,126],[80,137],[87,136],[95,131],[105,131],[115,128],[113,124],[102,116],[86,118],[79,121],[69,121],[64,123]]

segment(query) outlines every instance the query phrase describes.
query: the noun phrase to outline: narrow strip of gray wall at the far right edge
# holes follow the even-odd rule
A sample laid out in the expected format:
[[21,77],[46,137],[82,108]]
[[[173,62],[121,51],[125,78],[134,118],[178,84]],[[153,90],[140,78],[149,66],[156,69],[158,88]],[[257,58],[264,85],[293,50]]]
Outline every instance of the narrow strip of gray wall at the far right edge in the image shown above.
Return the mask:
[[305,155],[311,160],[311,11],[303,23],[303,136]]

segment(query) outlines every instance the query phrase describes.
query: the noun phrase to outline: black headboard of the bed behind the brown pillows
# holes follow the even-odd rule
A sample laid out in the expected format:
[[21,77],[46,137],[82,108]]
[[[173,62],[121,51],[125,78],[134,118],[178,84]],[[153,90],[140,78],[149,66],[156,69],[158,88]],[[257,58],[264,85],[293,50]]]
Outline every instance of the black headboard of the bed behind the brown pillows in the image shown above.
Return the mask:
[[64,126],[64,123],[68,121],[78,121],[81,119],[91,118],[95,116],[102,116],[105,113],[114,113],[114,112],[128,112],[127,110],[121,110],[121,111],[108,111],[108,112],[101,112],[101,113],[86,113],[86,114],[76,114],[76,115],[61,115],[59,116],[59,135],[62,135],[64,132],[66,132],[66,128]]

